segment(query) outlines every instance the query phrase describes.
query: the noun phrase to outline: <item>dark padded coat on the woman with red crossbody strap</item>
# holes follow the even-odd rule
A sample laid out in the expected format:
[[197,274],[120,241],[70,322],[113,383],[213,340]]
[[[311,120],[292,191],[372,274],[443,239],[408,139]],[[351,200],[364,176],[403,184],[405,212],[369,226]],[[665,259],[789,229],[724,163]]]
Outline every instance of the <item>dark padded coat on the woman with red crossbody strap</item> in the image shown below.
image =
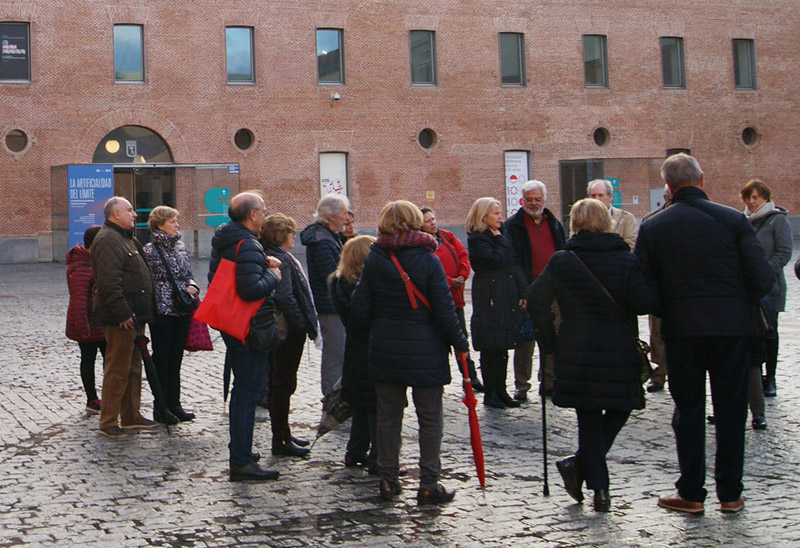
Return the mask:
[[373,243],[351,300],[353,314],[370,323],[370,376],[387,384],[443,386],[450,382],[450,346],[467,352],[469,345],[442,264],[423,247],[398,247],[395,255],[431,309],[422,303],[412,309],[389,250]]

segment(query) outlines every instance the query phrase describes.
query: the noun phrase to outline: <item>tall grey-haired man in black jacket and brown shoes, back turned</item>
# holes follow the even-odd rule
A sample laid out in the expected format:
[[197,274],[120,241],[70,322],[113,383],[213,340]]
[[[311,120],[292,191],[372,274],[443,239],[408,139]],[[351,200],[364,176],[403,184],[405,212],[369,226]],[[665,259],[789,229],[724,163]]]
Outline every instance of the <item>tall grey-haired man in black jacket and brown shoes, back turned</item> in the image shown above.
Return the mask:
[[635,252],[652,271],[661,297],[672,428],[678,449],[677,493],[659,506],[701,513],[705,483],[705,382],[716,417],[714,476],[723,512],[742,498],[751,305],[772,287],[773,273],[750,223],[703,192],[703,171],[686,154],[667,158],[661,177],[673,204],[642,224]]

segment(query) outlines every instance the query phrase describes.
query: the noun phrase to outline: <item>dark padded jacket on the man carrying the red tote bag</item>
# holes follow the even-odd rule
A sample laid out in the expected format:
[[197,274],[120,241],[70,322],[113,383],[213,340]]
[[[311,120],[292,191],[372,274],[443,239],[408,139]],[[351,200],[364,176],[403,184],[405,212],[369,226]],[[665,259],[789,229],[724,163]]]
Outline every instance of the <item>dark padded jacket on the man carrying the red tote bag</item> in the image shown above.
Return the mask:
[[[239,240],[239,253],[236,245]],[[208,263],[208,281],[214,278],[220,259],[236,261],[236,293],[245,301],[265,298],[256,312],[257,316],[273,313],[273,294],[278,280],[267,267],[264,248],[256,235],[241,223],[231,221],[217,228],[211,238],[211,260]]]

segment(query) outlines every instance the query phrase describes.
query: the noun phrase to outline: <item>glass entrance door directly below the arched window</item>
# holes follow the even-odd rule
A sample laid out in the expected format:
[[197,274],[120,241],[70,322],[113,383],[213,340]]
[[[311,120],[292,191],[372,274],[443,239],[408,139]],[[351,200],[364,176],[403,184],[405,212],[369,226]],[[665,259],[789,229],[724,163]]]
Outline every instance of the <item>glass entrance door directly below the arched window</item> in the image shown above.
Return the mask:
[[136,238],[150,241],[147,218],[159,205],[175,207],[175,169],[163,167],[114,168],[114,194],[126,198],[136,210]]

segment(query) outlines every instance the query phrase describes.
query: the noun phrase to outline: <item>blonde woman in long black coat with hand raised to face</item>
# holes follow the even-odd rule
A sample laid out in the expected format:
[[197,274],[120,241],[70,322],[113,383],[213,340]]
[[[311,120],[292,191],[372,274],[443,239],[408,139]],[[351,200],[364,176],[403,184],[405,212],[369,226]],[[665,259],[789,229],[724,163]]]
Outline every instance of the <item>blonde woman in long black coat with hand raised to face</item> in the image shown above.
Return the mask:
[[505,409],[520,402],[506,391],[508,349],[522,320],[524,274],[516,266],[511,237],[503,227],[500,202],[478,198],[467,214],[467,248],[472,279],[472,346],[481,353],[483,404]]

